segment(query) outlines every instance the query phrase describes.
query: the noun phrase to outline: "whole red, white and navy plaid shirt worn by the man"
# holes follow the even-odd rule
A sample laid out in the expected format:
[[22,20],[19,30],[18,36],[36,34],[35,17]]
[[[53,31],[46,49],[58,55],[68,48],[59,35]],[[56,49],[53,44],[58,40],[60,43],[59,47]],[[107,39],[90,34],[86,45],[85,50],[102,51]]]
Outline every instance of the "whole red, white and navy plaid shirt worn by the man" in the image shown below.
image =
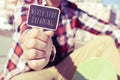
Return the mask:
[[[46,0],[17,1],[14,15],[15,33],[13,35],[13,44],[8,54],[8,61],[4,67],[3,73],[0,75],[0,80],[9,80],[17,74],[31,70],[27,63],[21,59],[23,50],[20,47],[19,38],[25,30],[31,28],[26,24],[30,4],[46,4]],[[87,12],[77,8],[74,3],[66,0],[62,0],[59,8],[61,10],[60,20],[58,29],[53,36],[53,43],[57,49],[57,54],[54,63],[51,64],[54,65],[58,63],[74,50],[75,45],[70,44],[69,39],[75,38],[76,29],[83,29],[95,35],[110,35],[115,40],[116,47],[120,48],[120,30],[117,26],[89,15]]]

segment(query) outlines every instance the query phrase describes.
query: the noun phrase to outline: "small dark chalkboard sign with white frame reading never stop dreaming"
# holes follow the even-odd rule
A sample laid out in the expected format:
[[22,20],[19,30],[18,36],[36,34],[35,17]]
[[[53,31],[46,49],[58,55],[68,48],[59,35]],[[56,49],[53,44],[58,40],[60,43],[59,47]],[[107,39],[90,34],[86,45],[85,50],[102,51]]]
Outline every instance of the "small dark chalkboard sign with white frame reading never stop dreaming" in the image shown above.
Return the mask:
[[27,24],[47,30],[56,30],[60,10],[50,6],[32,4],[29,9]]

